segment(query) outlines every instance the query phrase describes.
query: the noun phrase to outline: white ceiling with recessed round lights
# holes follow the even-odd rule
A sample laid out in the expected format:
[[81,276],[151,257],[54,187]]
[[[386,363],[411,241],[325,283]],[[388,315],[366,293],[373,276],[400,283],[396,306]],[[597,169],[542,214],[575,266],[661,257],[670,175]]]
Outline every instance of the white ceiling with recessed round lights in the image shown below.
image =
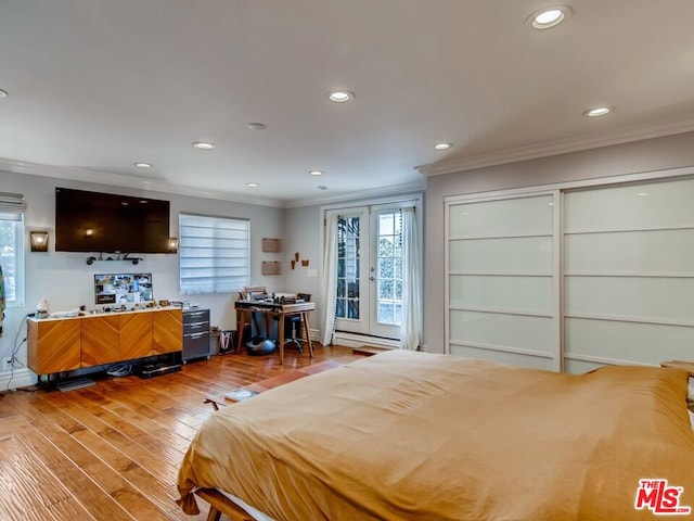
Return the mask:
[[292,206],[694,129],[694,1],[563,3],[0,0],[0,167]]

